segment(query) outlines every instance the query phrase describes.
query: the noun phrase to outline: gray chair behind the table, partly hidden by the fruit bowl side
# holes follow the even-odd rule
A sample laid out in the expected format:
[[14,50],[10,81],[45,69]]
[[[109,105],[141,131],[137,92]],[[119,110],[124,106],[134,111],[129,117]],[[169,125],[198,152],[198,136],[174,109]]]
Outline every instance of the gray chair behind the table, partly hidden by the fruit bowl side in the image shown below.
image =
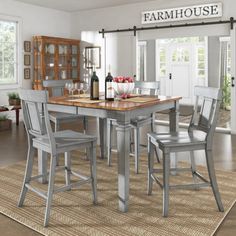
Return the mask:
[[[160,89],[160,81],[146,82],[136,81],[135,91],[137,94],[158,95]],[[131,126],[134,130],[134,157],[135,157],[135,172],[139,173],[139,155],[140,155],[140,128],[145,125],[151,125],[151,131],[154,132],[155,127],[155,113],[151,116],[138,116],[131,120]],[[111,165],[111,145],[112,145],[112,126],[117,125],[116,120],[108,119],[107,128],[107,146],[108,146],[108,165]],[[157,155],[157,153],[156,153]],[[158,156],[157,156],[158,159]],[[158,159],[159,161],[159,159]]]

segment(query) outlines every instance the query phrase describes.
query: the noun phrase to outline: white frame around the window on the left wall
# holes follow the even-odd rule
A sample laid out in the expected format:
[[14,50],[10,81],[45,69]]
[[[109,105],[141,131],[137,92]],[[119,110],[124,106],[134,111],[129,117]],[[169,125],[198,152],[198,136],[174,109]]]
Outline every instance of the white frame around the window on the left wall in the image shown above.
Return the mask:
[[22,87],[23,66],[22,66],[22,19],[16,16],[6,16],[0,14],[0,21],[16,23],[16,83],[0,84],[1,90],[17,89]]

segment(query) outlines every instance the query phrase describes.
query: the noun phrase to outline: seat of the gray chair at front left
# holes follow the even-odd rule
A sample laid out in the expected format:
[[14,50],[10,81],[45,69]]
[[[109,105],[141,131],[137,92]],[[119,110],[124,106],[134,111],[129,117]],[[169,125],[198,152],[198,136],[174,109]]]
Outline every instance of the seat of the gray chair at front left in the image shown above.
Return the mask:
[[[58,153],[63,152],[63,149],[69,150],[70,147],[78,145],[88,145],[88,142],[95,142],[96,137],[87,135],[72,130],[62,130],[54,133],[56,148]],[[42,149],[46,152],[50,151],[50,143],[47,135],[33,139],[33,146]],[[73,148],[74,149],[74,148]]]

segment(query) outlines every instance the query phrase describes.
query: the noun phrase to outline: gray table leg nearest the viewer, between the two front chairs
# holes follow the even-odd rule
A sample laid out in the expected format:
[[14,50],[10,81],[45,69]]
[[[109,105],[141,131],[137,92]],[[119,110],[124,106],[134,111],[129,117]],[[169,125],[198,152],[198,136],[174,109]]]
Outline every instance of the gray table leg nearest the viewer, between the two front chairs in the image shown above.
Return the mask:
[[128,211],[129,204],[129,154],[130,154],[130,125],[118,123],[117,154],[118,154],[118,197],[119,210]]

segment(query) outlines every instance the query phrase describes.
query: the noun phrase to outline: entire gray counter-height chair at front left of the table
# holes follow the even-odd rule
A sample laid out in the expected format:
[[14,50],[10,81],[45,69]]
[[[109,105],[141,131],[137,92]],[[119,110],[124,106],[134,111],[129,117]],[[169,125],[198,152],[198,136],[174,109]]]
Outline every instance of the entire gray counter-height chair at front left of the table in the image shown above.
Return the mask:
[[[23,186],[18,202],[22,207],[28,190],[33,191],[46,200],[44,226],[49,224],[50,207],[54,193],[70,190],[82,184],[91,183],[93,192],[93,203],[97,202],[97,181],[96,181],[96,143],[97,138],[72,130],[52,132],[47,109],[48,92],[35,90],[20,90],[24,124],[28,137],[27,164]],[[84,176],[71,170],[70,152],[79,148],[90,150],[90,175]],[[42,178],[43,175],[32,176],[35,149],[50,154],[49,180],[47,192],[41,191],[33,186],[32,180]],[[65,166],[56,167],[56,156],[60,153],[65,155]],[[59,170],[65,171],[65,183],[63,187],[55,187],[55,173]],[[80,181],[71,183],[71,175],[80,178]]]

